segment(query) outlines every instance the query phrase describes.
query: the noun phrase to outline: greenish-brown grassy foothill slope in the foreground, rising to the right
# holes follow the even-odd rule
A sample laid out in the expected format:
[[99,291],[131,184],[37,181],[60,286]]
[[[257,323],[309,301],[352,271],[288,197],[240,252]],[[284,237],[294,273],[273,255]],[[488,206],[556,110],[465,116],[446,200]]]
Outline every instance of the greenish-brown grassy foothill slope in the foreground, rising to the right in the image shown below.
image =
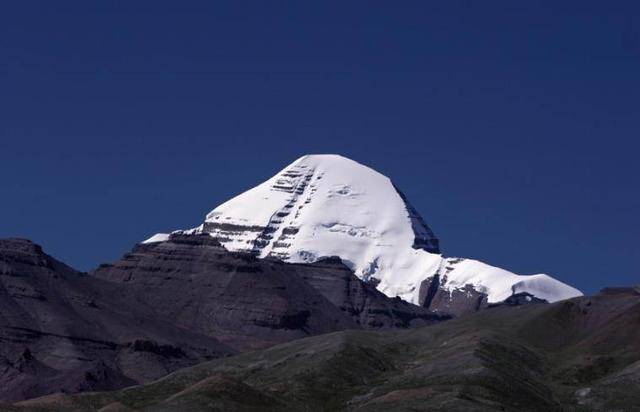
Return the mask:
[[638,365],[640,291],[619,288],[551,305],[496,307],[428,328],[331,333],[213,360],[142,387],[15,408],[634,411]]

